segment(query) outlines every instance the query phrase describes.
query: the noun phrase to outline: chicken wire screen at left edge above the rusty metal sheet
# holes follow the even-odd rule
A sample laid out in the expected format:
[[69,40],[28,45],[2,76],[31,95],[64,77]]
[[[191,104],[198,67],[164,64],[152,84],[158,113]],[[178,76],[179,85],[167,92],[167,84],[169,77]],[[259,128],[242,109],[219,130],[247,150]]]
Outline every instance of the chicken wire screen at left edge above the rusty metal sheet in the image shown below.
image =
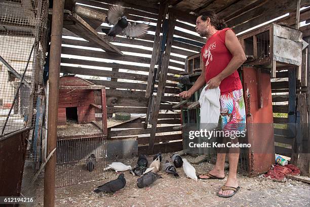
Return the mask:
[[[43,70],[48,45],[48,0],[0,2],[0,137],[31,127],[22,179],[22,195],[30,196],[31,180],[40,164],[41,135],[33,143],[37,97],[44,103]],[[44,110],[44,104],[40,106]],[[41,110],[40,110],[41,111]],[[35,132],[36,131],[36,132]],[[33,151],[33,146],[38,148]],[[41,159],[42,160],[42,159]],[[32,194],[33,195],[33,194]]]

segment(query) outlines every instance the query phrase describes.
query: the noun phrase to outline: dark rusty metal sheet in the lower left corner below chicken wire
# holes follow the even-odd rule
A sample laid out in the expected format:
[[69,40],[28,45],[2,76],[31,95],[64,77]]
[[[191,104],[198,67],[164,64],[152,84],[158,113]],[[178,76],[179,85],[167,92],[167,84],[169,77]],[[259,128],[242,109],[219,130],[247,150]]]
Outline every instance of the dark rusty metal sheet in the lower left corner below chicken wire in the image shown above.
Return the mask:
[[19,196],[30,128],[0,137],[0,196]]

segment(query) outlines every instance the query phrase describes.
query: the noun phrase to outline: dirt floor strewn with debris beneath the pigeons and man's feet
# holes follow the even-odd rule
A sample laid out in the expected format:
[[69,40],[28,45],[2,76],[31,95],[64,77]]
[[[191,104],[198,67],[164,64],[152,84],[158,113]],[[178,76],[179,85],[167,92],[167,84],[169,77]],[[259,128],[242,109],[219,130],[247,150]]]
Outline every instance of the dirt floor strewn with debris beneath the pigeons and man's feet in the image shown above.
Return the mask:
[[[163,161],[172,154],[163,154]],[[188,161],[193,157],[184,156]],[[149,156],[148,161],[152,158]],[[136,166],[137,157],[118,160]],[[214,165],[208,162],[193,164],[197,173],[208,172]],[[100,166],[97,166],[98,168]],[[101,168],[101,167],[100,167]],[[102,168],[104,168],[102,166]],[[106,171],[106,178],[101,181],[83,183],[57,188],[55,206],[310,206],[310,185],[295,180],[284,183],[255,177],[237,175],[241,190],[231,198],[216,196],[225,180],[198,180],[186,178],[183,169],[177,169],[179,178],[160,172],[164,179],[154,182],[149,188],[138,188],[137,176],[125,172],[126,186],[117,194],[93,192],[96,186],[116,179],[118,174]],[[43,176],[37,180],[35,205],[43,206]]]

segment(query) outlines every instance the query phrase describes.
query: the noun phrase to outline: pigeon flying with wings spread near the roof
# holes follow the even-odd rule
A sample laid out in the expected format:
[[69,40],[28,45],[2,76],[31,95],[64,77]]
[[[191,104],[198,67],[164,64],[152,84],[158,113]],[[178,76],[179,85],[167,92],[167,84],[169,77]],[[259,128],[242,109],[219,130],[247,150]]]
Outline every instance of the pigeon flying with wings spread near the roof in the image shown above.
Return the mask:
[[140,37],[143,36],[147,30],[148,25],[144,23],[131,24],[127,21],[127,17],[124,15],[124,7],[111,6],[108,14],[107,21],[109,25],[113,25],[111,28],[102,28],[107,36],[115,37],[118,34],[124,34],[127,37]]

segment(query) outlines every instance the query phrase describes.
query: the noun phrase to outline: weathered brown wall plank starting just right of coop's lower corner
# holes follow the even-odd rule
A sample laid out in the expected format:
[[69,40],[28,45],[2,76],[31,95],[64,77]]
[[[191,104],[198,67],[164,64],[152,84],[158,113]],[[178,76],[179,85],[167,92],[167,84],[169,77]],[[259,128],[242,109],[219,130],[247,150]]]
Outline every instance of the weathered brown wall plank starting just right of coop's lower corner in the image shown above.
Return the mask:
[[[122,137],[122,136],[131,136],[131,135],[149,134],[150,131],[151,131],[151,128],[111,131],[109,134],[109,137]],[[180,131],[180,130],[174,130],[173,127],[158,127],[157,128],[157,133],[175,132],[175,131]]]

